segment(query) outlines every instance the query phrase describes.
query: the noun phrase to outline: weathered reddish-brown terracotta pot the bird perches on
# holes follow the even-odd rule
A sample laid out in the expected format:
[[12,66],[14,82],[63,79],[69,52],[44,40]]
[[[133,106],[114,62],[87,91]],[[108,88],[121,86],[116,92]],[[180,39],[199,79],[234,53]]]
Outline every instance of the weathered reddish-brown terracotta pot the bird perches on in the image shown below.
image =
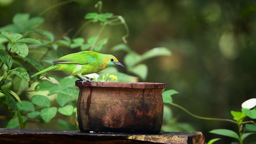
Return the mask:
[[78,124],[84,132],[158,133],[166,84],[77,81]]

